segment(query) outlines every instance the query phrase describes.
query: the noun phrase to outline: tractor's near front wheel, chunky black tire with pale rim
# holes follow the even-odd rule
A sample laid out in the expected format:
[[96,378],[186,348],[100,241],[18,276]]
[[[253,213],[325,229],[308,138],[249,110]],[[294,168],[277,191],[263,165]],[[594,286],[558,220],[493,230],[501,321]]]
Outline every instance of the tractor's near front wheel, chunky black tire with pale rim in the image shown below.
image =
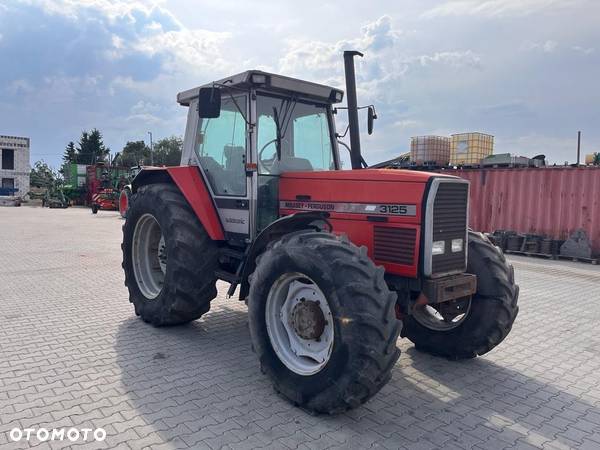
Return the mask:
[[[366,402],[389,381],[400,356],[401,322],[394,312],[396,294],[383,275],[365,247],[325,232],[290,233],[259,256],[250,276],[250,335],[261,370],[278,393],[309,411],[337,414]],[[294,281],[286,288],[286,280]],[[293,310],[289,302],[295,302]],[[312,322],[320,321],[321,328],[313,335],[295,328],[304,326],[301,321],[292,322],[311,309],[299,305],[321,309]],[[288,322],[284,310],[292,312]],[[311,343],[313,350],[329,347],[299,356]]]

